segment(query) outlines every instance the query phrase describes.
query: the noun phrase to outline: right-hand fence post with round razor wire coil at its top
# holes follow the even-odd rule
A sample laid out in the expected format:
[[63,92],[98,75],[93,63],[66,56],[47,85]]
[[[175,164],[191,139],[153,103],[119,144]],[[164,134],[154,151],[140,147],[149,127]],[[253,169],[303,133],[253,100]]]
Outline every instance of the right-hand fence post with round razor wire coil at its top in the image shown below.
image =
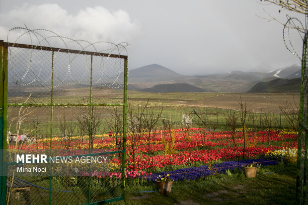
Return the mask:
[[[307,4],[308,5],[308,4]],[[308,6],[306,5],[306,8]],[[306,10],[306,25],[295,17],[288,17],[284,26],[283,37],[287,49],[302,63],[301,78],[301,98],[299,107],[299,138],[298,138],[298,157],[297,157],[297,183],[296,183],[296,204],[306,205],[308,203],[308,15]],[[292,34],[300,35],[303,40],[302,56],[300,51],[295,49],[292,43]]]

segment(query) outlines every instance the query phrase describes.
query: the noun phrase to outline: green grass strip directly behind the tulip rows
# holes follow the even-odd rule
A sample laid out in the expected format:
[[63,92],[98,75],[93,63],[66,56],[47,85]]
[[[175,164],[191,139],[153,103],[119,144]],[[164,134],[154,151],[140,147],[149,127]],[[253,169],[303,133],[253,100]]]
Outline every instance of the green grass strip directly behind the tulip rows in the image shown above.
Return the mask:
[[[145,104],[145,102],[141,102]],[[132,104],[133,107],[136,107],[137,102],[134,102]],[[140,103],[139,103],[140,105]],[[110,108],[110,107],[109,107]],[[23,110],[26,108],[23,107]],[[77,122],[76,116],[80,115],[80,108],[78,107],[68,107],[68,108],[58,108],[55,107],[53,111],[54,115],[54,121],[53,121],[53,135],[57,136],[59,135],[59,121],[63,121],[63,116],[65,115],[67,121]],[[150,108],[151,109],[151,108]],[[8,109],[8,126],[11,126],[10,132],[15,134],[16,133],[16,117],[18,116],[20,108],[19,107],[9,107]],[[119,109],[120,112],[122,112],[121,109]],[[156,112],[159,112],[161,110],[161,107],[154,107],[154,110]],[[192,107],[192,106],[182,106],[182,107],[164,107],[161,118],[164,118],[166,120],[171,120],[175,123],[173,128],[181,128],[181,121],[182,121],[182,114],[190,114],[190,117],[192,117],[193,120],[193,127],[204,127],[201,120],[197,115],[195,115],[193,112],[195,112],[199,115],[199,117],[206,123],[206,128],[211,129],[213,128],[213,125],[215,124],[218,128],[217,131],[226,131],[231,130],[229,126],[226,124],[226,118],[225,116],[228,116],[232,113],[236,113],[237,116],[239,116],[239,111],[232,110],[232,109],[220,109],[220,108],[210,108],[210,107]],[[49,127],[50,127],[50,108],[49,107],[40,107],[40,108],[31,108],[29,109],[29,112],[31,112],[31,115],[26,116],[24,123],[21,125],[21,130],[23,133],[28,133],[30,130],[33,130],[33,123],[39,122],[38,130],[40,131],[40,135],[46,135],[50,133]],[[262,127],[262,124],[260,125],[260,118],[262,121],[264,120],[264,110],[262,109],[262,114],[260,113],[260,110],[256,113],[256,122],[255,127],[260,128]],[[65,114],[64,114],[65,113]],[[111,115],[109,114],[108,110],[106,108],[97,108],[97,113],[99,118],[101,119],[102,123],[99,128],[99,134],[108,133],[109,129],[106,123],[106,119],[110,119]],[[267,114],[269,115],[269,118],[272,122],[272,127],[279,128],[290,128],[289,123],[286,120],[286,117],[281,114],[279,111],[278,113],[273,114]],[[15,120],[13,120],[15,119]],[[281,121],[280,121],[281,119]],[[248,122],[248,116],[246,121]],[[217,126],[218,124],[218,126]],[[250,122],[251,124],[251,122]],[[158,129],[161,129],[162,124],[159,121],[157,124]],[[237,127],[240,128],[240,122],[238,120]],[[249,125],[248,125],[249,127]],[[252,124],[250,125],[252,127]],[[265,129],[265,128],[263,128]],[[76,123],[76,133],[75,135],[80,135],[80,130],[77,128]]]

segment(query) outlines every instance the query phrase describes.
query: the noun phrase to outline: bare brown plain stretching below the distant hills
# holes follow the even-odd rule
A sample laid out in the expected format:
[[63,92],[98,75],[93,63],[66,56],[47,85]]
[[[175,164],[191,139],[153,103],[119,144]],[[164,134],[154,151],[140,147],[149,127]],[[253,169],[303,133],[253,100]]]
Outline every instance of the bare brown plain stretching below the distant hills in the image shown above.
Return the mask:
[[[86,88],[67,89],[55,96],[55,103],[80,103],[87,102],[88,93]],[[121,89],[93,89],[94,103],[121,103],[123,102],[123,90]],[[26,96],[23,96],[26,98]],[[21,96],[8,97],[9,103],[21,103]],[[138,91],[128,91],[129,100],[133,102],[146,103],[149,99],[149,107],[213,107],[223,109],[239,109],[239,101],[246,103],[247,110],[252,112],[280,112],[279,106],[286,106],[286,103],[291,103],[293,106],[298,106],[300,102],[300,94],[294,93],[145,93]],[[49,103],[50,97],[38,97],[32,95],[30,100],[32,103]],[[133,103],[132,103],[133,104]],[[133,104],[134,105],[134,104]],[[137,105],[137,104],[136,104]],[[67,120],[75,118],[78,115],[78,107],[55,107],[53,116],[56,119],[62,118],[64,113]],[[109,107],[110,109],[110,107]],[[24,107],[23,110],[26,110]],[[9,121],[18,116],[20,107],[9,107]],[[49,107],[31,107],[27,116],[30,121],[37,121],[35,118],[40,118],[39,121],[48,122],[50,119]],[[23,111],[26,112],[26,111]],[[101,118],[108,118],[109,113],[106,108],[99,108]]]

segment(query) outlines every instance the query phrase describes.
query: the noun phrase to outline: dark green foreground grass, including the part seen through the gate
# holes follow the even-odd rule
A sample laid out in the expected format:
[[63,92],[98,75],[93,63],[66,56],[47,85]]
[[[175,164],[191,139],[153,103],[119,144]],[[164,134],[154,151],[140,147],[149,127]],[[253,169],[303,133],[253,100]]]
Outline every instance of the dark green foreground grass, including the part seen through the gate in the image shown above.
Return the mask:
[[[49,188],[49,179],[31,180],[31,183]],[[87,178],[79,182],[84,186],[69,187],[70,193],[58,192],[66,190],[65,183],[57,183],[53,179],[52,203],[65,205],[81,205],[87,203]],[[107,178],[107,181],[108,178]],[[91,200],[100,201],[119,197],[120,184],[116,187],[115,195],[99,193],[108,192],[105,186],[91,185]],[[109,187],[109,192],[110,192]],[[236,205],[268,205],[295,204],[296,164],[279,163],[274,166],[261,167],[256,178],[246,178],[242,171],[236,169],[221,175],[210,175],[198,180],[175,181],[169,195],[160,195],[156,185],[141,179],[127,179],[125,202],[113,202],[110,205],[208,205],[208,204],[236,204]],[[47,204],[49,191],[42,188],[31,188],[31,203]],[[195,204],[193,204],[195,203]],[[15,204],[15,203],[13,203]],[[18,204],[18,202],[16,202]]]

